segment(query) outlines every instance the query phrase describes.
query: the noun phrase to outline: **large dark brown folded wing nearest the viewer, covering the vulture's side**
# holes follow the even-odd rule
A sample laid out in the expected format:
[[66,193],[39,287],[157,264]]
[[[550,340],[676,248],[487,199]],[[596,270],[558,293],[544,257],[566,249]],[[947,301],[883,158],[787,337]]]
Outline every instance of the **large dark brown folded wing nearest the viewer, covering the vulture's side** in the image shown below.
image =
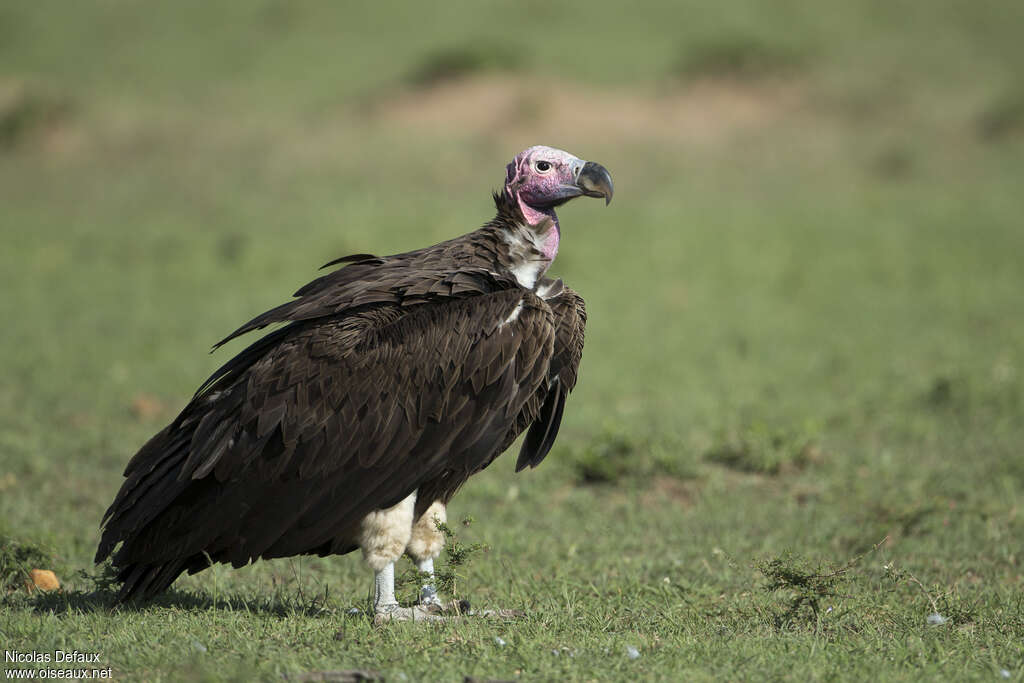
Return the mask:
[[97,561],[123,542],[126,598],[207,557],[346,552],[368,512],[497,455],[548,377],[555,333],[522,289],[279,330],[131,461]]

